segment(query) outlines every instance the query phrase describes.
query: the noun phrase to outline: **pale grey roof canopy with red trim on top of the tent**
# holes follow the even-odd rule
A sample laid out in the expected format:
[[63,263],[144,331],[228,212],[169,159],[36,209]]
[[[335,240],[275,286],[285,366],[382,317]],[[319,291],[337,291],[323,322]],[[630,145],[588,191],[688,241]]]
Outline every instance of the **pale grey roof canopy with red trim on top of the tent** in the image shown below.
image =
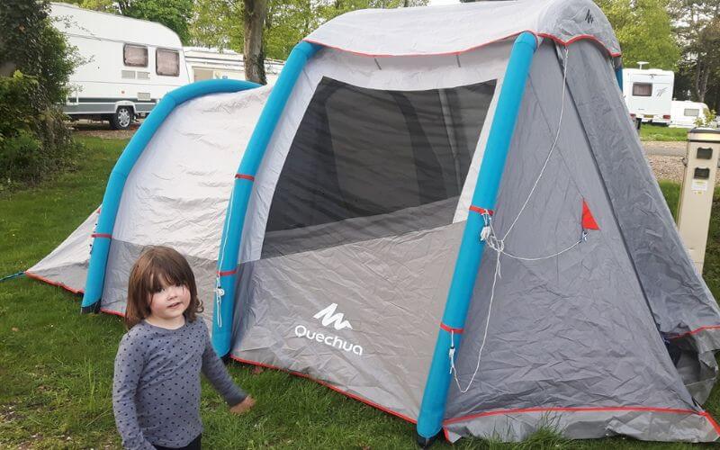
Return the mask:
[[567,43],[590,38],[613,56],[620,52],[612,26],[591,0],[366,9],[323,23],[305,40],[368,56],[438,55],[477,49],[523,31]]

